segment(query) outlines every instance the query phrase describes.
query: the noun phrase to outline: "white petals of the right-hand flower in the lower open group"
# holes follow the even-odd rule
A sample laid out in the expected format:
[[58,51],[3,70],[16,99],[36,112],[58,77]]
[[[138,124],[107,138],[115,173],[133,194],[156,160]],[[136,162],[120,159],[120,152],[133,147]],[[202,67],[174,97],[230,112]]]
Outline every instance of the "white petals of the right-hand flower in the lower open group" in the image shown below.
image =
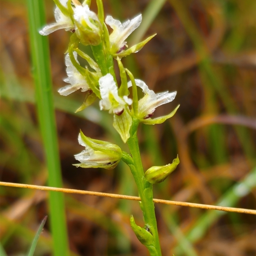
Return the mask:
[[[155,93],[140,79],[135,79],[135,83],[145,93],[145,96],[138,101],[138,117],[142,119],[147,119],[153,116],[157,107],[171,102],[177,94],[177,92],[168,91]],[[128,82],[128,88],[131,86],[132,82],[130,81]]]

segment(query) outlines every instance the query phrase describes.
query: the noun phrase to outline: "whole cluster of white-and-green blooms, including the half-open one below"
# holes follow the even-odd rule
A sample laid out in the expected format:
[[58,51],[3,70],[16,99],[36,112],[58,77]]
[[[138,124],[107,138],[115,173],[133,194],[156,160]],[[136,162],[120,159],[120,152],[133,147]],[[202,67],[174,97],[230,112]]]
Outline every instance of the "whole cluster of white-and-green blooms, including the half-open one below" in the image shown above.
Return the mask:
[[[78,89],[81,89],[81,92],[86,92],[84,103],[77,111],[88,107],[99,98],[100,110],[108,110],[110,114],[114,115],[113,126],[120,134],[124,143],[126,143],[130,137],[133,119],[137,119],[145,124],[160,124],[175,114],[179,106],[169,115],[151,119],[157,107],[174,100],[176,92],[153,92],[143,81],[134,79],[130,71],[124,69],[121,63],[121,58],[138,52],[155,36],[150,36],[143,42],[126,49],[128,47],[126,39],[140,26],[142,15],[139,14],[132,20],[127,20],[124,23],[108,15],[104,23],[104,11],[103,7],[99,4],[100,2],[97,1],[98,15],[90,10],[90,7],[86,4],[88,2],[90,1],[84,1],[81,4],[78,0],[55,0],[57,4],[54,11],[56,22],[45,26],[39,33],[46,36],[58,29],[70,30],[75,33],[72,36],[68,53],[65,57],[68,77],[64,81],[68,85],[60,88],[58,92],[64,96]],[[110,35],[106,25],[113,29]],[[96,54],[94,54],[96,60],[97,54],[100,54],[100,51],[101,53],[103,52],[103,57],[96,63],[92,58],[79,50],[79,43],[91,45],[92,49],[96,49],[96,52],[93,52],[93,54]],[[88,67],[83,68],[77,60],[78,55],[84,58],[94,71],[89,71]],[[112,67],[113,72],[111,74],[109,67],[104,69],[102,68],[102,63],[100,64],[102,59],[103,61],[106,60],[107,56],[110,56],[112,60],[116,58],[118,62],[121,77],[120,87],[118,87],[114,77],[114,68]],[[126,74],[131,79],[128,83]],[[130,87],[132,87],[133,100],[128,98],[128,88]],[[140,87],[144,92],[144,97],[139,100],[137,99],[137,87]],[[119,149],[111,146],[112,151],[106,153],[104,151],[106,145],[103,142],[89,139],[82,133],[79,135],[79,143],[86,147],[82,153],[75,156],[82,163],[79,166],[99,167],[100,164],[103,168],[110,168],[114,167],[121,157]],[[113,158],[111,158],[112,156]]]

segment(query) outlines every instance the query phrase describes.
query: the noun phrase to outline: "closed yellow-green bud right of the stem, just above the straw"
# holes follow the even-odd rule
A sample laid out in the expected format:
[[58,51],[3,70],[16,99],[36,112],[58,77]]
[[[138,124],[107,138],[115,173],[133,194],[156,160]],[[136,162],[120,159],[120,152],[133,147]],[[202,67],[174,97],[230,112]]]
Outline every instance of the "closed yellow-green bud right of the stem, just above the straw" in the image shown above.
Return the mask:
[[180,163],[179,156],[172,161],[172,164],[167,164],[164,166],[152,166],[145,172],[145,178],[151,184],[160,183],[164,181],[167,176],[173,172],[177,165]]

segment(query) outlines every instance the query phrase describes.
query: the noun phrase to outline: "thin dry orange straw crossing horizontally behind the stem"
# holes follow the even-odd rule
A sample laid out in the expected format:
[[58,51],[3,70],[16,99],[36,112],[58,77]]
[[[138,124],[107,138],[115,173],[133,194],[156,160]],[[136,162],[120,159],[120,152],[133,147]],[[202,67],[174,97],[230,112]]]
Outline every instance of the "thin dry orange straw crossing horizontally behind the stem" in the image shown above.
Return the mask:
[[[0,185],[9,186],[9,187],[17,187],[17,188],[32,188],[32,189],[47,190],[47,191],[58,191],[58,192],[63,192],[63,193],[82,194],[82,195],[90,195],[90,196],[105,196],[105,197],[111,197],[111,198],[140,201],[140,197],[138,197],[138,196],[125,196],[125,195],[93,192],[93,191],[70,189],[70,188],[53,188],[53,187],[46,187],[46,186],[18,184],[18,183],[10,183],[10,182],[2,182],[2,181],[0,181]],[[189,206],[189,207],[196,207],[196,208],[202,208],[202,209],[208,209],[208,210],[219,210],[219,211],[225,211],[225,212],[239,212],[239,213],[248,213],[248,214],[256,215],[256,210],[243,209],[243,208],[215,206],[215,205],[208,205],[208,204],[194,204],[194,203],[176,202],[176,201],[169,201],[169,200],[162,200],[162,199],[153,199],[153,201],[154,201],[154,203],[160,203],[160,204]]]

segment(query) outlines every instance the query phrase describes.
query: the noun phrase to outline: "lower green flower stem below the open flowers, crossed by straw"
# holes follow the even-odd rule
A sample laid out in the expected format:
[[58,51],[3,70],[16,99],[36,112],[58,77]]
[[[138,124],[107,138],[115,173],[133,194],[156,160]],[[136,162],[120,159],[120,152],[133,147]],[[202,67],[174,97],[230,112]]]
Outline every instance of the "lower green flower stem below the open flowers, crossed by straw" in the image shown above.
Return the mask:
[[131,169],[135,183],[138,187],[139,195],[142,202],[141,209],[143,212],[145,224],[150,228],[150,232],[154,237],[157,256],[161,256],[162,254],[157,232],[155,206],[153,203],[153,186],[148,181],[146,181],[144,177],[144,171],[140,158],[139,142],[137,138],[138,125],[139,120],[134,118],[130,130],[131,137],[127,140],[127,144],[132,154],[133,164],[127,164]]

